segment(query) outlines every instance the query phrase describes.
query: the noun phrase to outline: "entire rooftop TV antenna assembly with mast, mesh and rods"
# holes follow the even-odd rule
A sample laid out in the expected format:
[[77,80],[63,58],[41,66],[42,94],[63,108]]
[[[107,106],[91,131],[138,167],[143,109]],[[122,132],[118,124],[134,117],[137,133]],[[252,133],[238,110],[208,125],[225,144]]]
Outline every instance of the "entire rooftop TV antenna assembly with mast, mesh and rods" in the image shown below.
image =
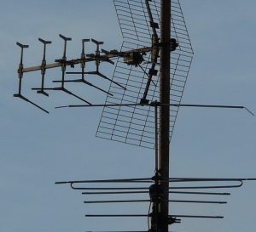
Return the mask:
[[[150,178],[101,179],[57,182],[70,184],[73,190],[86,190],[84,195],[132,195],[148,194],[148,198],[115,201],[84,201],[96,203],[133,203],[149,202],[148,214],[86,214],[86,217],[146,217],[148,231],[167,232],[170,224],[180,223],[181,218],[223,218],[223,216],[169,214],[169,202],[224,204],[226,201],[177,200],[169,195],[230,195],[219,192],[221,189],[239,188],[244,181],[253,178],[170,178],[169,176],[169,141],[177,119],[179,107],[212,107],[246,109],[244,106],[230,105],[184,105],[181,104],[184,87],[193,58],[187,27],[179,0],[113,0],[119,25],[124,37],[120,51],[100,49],[103,42],[95,39],[82,39],[82,52],[77,59],[67,59],[67,42],[71,37],[64,37],[64,50],[61,59],[47,64],[46,45],[49,41],[39,38],[44,44],[41,65],[23,67],[23,49],[28,48],[17,42],[21,48],[18,69],[19,90],[15,97],[26,100],[40,110],[41,106],[33,103],[21,94],[21,82],[26,72],[41,71],[40,88],[32,88],[37,93],[49,96],[49,91],[62,91],[79,99],[85,105],[65,105],[64,107],[103,107],[102,117],[96,136],[112,139],[126,144],[135,144],[155,150],[154,176]],[[172,8],[171,8],[172,3]],[[95,54],[85,54],[85,43],[96,45]],[[172,55],[172,60],[171,60]],[[117,58],[113,78],[108,78],[100,71],[102,62],[114,64]],[[96,71],[86,71],[86,63],[95,62]],[[81,71],[67,71],[80,65]],[[59,87],[45,88],[46,71],[61,68],[61,80],[54,83]],[[79,79],[67,79],[67,75],[81,75]],[[110,82],[110,88],[104,90],[88,82],[85,76],[93,75]],[[84,83],[107,94],[105,104],[95,105],[68,90],[70,82]],[[249,111],[249,110],[248,110]],[[47,112],[47,110],[44,110]],[[249,111],[250,112],[250,111]],[[169,184],[172,183],[172,186]],[[214,183],[214,184],[212,184]],[[90,187],[87,184],[101,184]],[[108,184],[106,186],[106,184]],[[120,185],[121,184],[121,185]],[[124,186],[125,184],[125,186]],[[128,187],[126,184],[130,184]],[[216,191],[209,191],[216,190]],[[150,221],[150,222],[149,222]]]

